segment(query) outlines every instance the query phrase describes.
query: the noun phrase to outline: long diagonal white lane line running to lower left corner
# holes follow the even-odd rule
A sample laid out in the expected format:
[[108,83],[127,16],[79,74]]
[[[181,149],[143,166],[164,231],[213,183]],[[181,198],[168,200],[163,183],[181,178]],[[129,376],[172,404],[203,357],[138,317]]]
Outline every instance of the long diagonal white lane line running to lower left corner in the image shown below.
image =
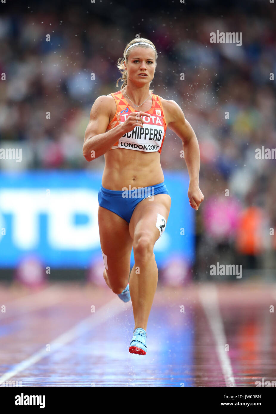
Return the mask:
[[3,374],[0,377],[0,384],[14,377],[19,372],[24,371],[24,369],[40,361],[42,358],[50,356],[53,352],[58,351],[58,349],[63,347],[63,345],[68,344],[68,342],[72,341],[73,339],[80,337],[85,332],[105,322],[111,316],[118,315],[119,313],[125,311],[128,306],[131,306],[131,301],[127,303],[121,303],[120,299],[117,297],[112,299],[106,305],[99,308],[99,310],[96,310],[95,313],[92,313],[90,316],[77,323],[77,325],[75,325],[73,328],[60,335],[53,342],[50,342],[50,352],[46,351],[45,345],[40,349],[40,351],[36,352],[29,358],[24,359],[24,361],[19,362],[12,370]]

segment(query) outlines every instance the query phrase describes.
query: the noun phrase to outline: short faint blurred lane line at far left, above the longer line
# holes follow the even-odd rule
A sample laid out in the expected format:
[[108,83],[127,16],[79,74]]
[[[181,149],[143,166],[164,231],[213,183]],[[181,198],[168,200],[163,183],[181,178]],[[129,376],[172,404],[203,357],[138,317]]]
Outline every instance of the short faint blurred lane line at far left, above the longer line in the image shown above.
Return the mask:
[[[11,318],[12,316],[20,316],[23,313],[28,313],[32,310],[48,308],[49,306],[61,302],[61,300],[61,293],[58,288],[56,286],[49,286],[42,291],[7,302],[6,312],[0,313],[0,322],[6,318]],[[17,306],[17,309],[20,306],[22,306],[22,308],[20,308],[20,310],[12,309],[10,311],[10,309],[14,306]]]

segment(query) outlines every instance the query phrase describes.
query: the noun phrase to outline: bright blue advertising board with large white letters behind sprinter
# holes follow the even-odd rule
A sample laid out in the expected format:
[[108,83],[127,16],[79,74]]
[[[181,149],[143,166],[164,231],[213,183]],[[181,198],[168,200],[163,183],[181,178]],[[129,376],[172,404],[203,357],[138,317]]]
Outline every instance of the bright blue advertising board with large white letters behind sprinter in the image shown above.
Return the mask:
[[[160,267],[175,254],[194,260],[189,176],[163,172],[172,205],[154,247]],[[27,254],[57,268],[82,268],[102,258],[97,218],[101,178],[102,171],[1,172],[0,267],[15,267]]]

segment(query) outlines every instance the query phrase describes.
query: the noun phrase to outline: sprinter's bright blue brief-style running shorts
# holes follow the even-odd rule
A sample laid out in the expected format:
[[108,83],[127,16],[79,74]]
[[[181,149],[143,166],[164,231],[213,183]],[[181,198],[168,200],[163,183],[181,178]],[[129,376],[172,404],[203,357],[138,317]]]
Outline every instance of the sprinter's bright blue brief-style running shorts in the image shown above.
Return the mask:
[[152,187],[138,187],[126,191],[108,190],[101,185],[98,193],[99,206],[114,212],[129,223],[133,210],[144,198],[157,194],[169,194],[164,182]]

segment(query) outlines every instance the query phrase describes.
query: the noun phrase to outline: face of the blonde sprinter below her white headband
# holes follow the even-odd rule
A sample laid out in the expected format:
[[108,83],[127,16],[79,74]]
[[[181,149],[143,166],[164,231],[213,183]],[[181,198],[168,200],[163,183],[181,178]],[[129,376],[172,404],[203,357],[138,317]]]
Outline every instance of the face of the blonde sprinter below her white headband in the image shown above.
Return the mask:
[[[155,72],[155,51],[153,48],[134,47],[128,55],[128,62],[124,61],[127,76],[131,82],[150,83]],[[141,72],[147,76],[139,75]]]

